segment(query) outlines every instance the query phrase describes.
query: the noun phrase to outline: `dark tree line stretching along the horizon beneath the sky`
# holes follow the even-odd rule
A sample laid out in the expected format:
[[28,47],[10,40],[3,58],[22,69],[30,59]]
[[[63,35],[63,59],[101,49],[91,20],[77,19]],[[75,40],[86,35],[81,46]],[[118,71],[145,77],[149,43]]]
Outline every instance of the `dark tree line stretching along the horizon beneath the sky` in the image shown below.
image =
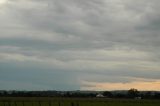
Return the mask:
[[128,91],[0,91],[0,97],[97,97],[98,94],[104,98],[142,98],[160,99],[160,92],[138,91],[129,89]]

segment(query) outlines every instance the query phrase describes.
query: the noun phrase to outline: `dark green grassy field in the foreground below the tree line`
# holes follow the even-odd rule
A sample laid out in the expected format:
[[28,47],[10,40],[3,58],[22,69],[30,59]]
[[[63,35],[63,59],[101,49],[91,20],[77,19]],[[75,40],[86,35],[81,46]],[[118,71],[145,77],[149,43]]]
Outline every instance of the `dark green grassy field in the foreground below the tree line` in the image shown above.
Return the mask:
[[160,100],[105,98],[0,98],[0,106],[160,106]]

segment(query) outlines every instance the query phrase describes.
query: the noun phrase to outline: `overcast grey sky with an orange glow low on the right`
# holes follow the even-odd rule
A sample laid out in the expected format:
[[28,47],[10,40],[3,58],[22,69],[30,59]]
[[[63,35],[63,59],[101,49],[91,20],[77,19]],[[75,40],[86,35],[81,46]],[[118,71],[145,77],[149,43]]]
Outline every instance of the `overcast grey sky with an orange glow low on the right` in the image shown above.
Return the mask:
[[160,90],[160,0],[0,0],[0,90]]

